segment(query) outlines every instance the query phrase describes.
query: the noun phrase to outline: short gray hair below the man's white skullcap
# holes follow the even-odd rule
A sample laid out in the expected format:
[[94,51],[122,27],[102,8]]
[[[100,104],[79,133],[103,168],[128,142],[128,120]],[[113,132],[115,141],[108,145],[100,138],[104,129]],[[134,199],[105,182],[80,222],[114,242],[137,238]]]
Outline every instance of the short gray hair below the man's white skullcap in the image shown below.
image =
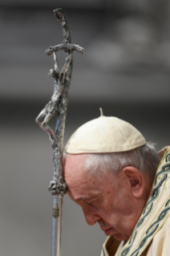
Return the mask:
[[[85,169],[90,173],[95,173],[96,170],[99,173],[107,173],[108,170],[118,173],[126,166],[134,166],[140,172],[148,174],[149,179],[153,179],[159,163],[160,156],[156,152],[155,144],[147,142],[144,146],[126,152],[87,154]],[[99,173],[96,173],[97,176]]]

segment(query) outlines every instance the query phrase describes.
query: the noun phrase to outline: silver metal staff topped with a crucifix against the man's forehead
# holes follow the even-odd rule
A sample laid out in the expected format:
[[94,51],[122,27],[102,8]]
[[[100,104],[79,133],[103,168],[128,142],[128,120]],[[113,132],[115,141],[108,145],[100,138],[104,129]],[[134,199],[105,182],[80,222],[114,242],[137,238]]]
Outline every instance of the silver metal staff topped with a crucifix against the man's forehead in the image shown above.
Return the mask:
[[[84,49],[71,43],[71,33],[67,25],[67,18],[62,9],[54,10],[55,17],[63,27],[63,43],[47,49],[47,55],[54,55],[55,69],[51,69],[49,74],[55,78],[54,93],[51,100],[42,109],[36,118],[36,123],[50,136],[52,148],[54,149],[53,161],[54,177],[49,185],[49,191],[53,197],[53,220],[52,220],[52,243],[51,256],[61,255],[61,233],[62,233],[62,207],[63,195],[67,193],[67,184],[63,178],[63,136],[67,115],[67,104],[69,87],[71,83],[71,73],[73,68],[73,51],[84,54]],[[66,52],[66,63],[59,72],[57,61],[57,51]],[[52,116],[57,116],[55,132],[49,127],[48,122]]]

